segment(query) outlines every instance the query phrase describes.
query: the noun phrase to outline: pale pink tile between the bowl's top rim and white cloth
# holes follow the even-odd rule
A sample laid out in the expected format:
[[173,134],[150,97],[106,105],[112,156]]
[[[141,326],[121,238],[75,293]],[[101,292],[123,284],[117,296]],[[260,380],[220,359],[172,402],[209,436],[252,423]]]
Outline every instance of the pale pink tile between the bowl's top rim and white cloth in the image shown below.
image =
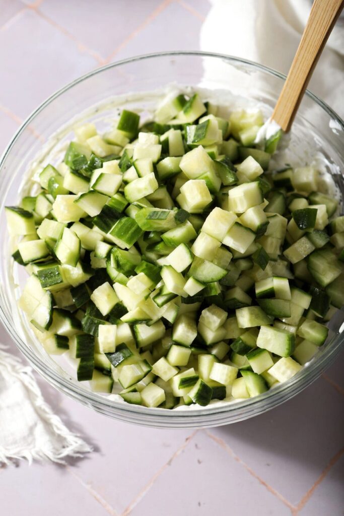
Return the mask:
[[199,50],[202,21],[172,2],[128,41],[112,60],[168,50]]

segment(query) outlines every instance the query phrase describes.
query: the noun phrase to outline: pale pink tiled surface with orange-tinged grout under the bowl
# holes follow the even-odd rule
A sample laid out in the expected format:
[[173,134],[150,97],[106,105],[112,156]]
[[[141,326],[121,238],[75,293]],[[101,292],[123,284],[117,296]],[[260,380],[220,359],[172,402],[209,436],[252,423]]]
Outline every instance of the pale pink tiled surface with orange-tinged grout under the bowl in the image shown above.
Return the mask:
[[[199,49],[209,9],[208,0],[0,0],[0,154],[38,103],[100,63]],[[0,340],[10,343],[3,330]],[[95,451],[68,466],[0,469],[1,513],[342,516],[343,359],[283,406],[196,433],[117,423],[39,379]]]

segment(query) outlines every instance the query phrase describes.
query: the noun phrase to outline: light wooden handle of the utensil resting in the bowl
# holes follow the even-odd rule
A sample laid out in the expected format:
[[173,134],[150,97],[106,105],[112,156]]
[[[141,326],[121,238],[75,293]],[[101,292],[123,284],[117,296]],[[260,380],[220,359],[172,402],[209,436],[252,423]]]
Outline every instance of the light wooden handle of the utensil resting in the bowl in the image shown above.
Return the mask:
[[271,117],[285,132],[290,130],[309,79],[343,6],[344,0],[314,0],[298,50]]

